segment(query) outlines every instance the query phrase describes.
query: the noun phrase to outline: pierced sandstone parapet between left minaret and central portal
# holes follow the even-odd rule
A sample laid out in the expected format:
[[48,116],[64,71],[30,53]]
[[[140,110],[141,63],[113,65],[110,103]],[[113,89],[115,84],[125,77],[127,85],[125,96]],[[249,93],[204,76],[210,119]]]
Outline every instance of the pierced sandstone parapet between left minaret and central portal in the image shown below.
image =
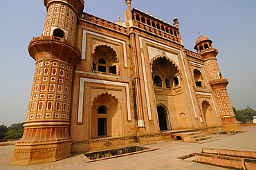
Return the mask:
[[110,28],[110,29],[113,29],[113,30],[117,30],[117,31],[125,33],[125,34],[127,34],[127,32],[128,32],[127,28],[124,27],[124,26],[120,26],[120,25],[118,25],[116,23],[113,23],[111,21],[107,21],[105,19],[101,19],[99,17],[89,15],[85,12],[83,12],[80,15],[80,19],[84,19],[84,20],[89,21],[91,23],[96,23],[97,25],[104,26],[104,27],[107,27],[107,28]]

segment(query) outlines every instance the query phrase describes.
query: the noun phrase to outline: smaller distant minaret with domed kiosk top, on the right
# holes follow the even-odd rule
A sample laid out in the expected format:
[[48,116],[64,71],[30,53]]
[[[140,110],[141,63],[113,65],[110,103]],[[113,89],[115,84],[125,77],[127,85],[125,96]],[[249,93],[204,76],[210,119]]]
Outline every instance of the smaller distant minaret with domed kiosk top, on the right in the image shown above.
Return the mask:
[[224,129],[239,129],[239,122],[237,121],[235,113],[233,112],[226,89],[228,79],[223,79],[217,63],[216,56],[219,53],[218,50],[212,48],[212,40],[202,35],[196,39],[194,49],[204,59],[203,66],[208,77],[208,82],[210,83],[210,86],[212,86],[212,95],[214,96],[214,102],[217,106],[217,111],[219,113],[219,117],[221,118]]

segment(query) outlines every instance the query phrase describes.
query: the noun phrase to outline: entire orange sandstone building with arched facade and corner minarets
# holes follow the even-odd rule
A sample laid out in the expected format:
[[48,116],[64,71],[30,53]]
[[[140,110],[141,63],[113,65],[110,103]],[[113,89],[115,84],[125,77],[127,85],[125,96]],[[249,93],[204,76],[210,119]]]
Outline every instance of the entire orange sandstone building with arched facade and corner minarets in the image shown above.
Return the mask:
[[172,130],[239,129],[217,64],[199,36],[185,49],[178,19],[125,0],[125,22],[83,12],[83,0],[44,0],[46,21],[28,51],[36,61],[24,136],[12,164],[35,164],[128,144]]

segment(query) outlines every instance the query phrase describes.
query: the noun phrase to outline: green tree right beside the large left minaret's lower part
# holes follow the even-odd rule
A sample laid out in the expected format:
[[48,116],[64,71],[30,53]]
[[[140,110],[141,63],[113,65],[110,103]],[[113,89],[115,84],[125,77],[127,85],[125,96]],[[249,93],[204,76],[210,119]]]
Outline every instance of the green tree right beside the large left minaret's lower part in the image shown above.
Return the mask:
[[25,123],[12,124],[8,127],[5,139],[21,138],[24,132]]

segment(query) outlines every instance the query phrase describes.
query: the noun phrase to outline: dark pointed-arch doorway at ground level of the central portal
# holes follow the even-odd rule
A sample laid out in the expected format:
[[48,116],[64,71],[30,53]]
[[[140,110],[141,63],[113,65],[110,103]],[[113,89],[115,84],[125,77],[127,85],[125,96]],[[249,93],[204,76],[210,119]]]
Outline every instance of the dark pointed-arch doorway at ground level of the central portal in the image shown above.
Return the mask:
[[165,107],[159,105],[157,108],[158,123],[160,131],[170,130],[170,121]]

